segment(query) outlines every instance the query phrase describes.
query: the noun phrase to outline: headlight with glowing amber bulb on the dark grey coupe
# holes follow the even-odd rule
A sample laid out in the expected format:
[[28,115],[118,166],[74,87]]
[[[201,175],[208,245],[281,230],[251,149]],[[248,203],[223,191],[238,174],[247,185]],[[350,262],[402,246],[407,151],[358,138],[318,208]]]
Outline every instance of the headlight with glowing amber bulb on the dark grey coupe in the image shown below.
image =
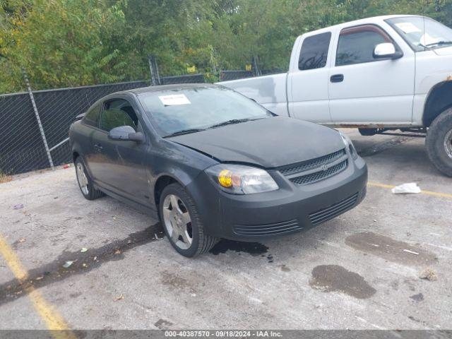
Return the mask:
[[209,167],[206,173],[222,191],[231,194],[253,194],[279,189],[268,172],[256,167],[220,164]]

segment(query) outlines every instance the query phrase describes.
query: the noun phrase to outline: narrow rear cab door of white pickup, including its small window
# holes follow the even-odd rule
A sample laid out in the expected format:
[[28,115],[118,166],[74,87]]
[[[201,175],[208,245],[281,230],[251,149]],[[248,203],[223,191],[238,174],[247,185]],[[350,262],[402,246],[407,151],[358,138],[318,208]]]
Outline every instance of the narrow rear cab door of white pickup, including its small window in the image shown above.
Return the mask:
[[290,117],[331,123],[327,64],[330,44],[331,32],[303,35],[297,40],[287,76]]

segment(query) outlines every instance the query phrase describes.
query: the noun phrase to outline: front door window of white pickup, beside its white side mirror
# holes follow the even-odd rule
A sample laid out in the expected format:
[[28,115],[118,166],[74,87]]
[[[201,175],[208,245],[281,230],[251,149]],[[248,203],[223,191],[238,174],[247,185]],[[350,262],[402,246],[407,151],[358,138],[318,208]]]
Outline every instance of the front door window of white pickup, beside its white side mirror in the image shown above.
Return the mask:
[[374,25],[345,28],[340,32],[335,66],[362,64],[376,61],[377,44],[392,42],[383,30]]

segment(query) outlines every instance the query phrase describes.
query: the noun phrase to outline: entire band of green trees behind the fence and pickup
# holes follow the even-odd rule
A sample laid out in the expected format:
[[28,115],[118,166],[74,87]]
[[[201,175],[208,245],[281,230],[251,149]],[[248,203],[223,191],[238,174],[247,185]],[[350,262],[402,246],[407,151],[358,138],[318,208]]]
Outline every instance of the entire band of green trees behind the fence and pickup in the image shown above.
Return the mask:
[[2,0],[0,93],[150,77],[287,69],[304,32],[369,16],[424,14],[452,26],[452,0]]

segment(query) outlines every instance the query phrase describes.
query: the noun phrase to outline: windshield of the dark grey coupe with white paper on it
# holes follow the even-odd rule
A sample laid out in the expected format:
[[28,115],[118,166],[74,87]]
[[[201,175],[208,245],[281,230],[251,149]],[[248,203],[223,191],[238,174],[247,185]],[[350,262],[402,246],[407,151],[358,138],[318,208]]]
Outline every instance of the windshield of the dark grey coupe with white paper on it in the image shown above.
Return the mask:
[[145,93],[140,101],[163,136],[273,117],[253,100],[222,87],[162,90]]

